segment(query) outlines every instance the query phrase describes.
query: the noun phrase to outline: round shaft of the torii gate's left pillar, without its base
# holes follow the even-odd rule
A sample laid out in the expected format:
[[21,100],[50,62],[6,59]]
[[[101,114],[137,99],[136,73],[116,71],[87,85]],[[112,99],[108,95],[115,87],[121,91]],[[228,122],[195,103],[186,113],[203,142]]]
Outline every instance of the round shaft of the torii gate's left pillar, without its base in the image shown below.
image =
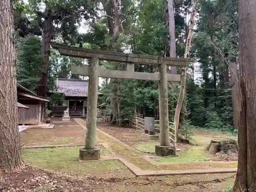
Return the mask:
[[86,150],[94,150],[96,142],[97,100],[99,82],[99,59],[90,59],[90,77],[87,102]]

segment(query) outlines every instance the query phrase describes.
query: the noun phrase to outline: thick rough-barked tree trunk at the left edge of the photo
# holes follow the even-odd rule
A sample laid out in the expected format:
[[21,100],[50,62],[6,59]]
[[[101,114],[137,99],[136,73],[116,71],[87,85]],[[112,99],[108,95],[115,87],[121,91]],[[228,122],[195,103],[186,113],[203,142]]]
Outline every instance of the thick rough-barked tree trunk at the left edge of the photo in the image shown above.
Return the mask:
[[10,0],[0,1],[0,169],[22,165],[18,133],[14,23]]

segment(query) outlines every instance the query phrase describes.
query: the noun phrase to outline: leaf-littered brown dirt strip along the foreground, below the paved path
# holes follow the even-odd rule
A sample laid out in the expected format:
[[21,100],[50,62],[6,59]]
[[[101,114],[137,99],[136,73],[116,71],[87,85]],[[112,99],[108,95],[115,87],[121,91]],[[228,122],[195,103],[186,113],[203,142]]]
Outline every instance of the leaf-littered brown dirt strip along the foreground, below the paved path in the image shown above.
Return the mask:
[[0,171],[0,191],[33,192],[217,192],[232,186],[234,174],[183,175],[137,178],[96,178],[90,175],[77,178],[73,175],[55,174],[31,166],[5,174]]

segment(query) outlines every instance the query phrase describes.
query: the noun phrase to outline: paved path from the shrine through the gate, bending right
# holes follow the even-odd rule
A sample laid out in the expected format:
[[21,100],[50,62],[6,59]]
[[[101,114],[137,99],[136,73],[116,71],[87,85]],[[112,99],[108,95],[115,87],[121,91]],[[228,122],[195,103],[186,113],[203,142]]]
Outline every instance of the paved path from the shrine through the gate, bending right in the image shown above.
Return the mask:
[[[80,118],[74,119],[86,130],[86,121]],[[161,175],[190,175],[190,174],[214,174],[236,173],[236,162],[156,162],[133,147],[121,142],[117,138],[97,129],[97,141],[109,150],[113,157],[121,161],[136,176],[161,176]],[[191,169],[184,169],[191,167]],[[202,168],[204,167],[204,168]],[[223,168],[222,168],[223,167]]]

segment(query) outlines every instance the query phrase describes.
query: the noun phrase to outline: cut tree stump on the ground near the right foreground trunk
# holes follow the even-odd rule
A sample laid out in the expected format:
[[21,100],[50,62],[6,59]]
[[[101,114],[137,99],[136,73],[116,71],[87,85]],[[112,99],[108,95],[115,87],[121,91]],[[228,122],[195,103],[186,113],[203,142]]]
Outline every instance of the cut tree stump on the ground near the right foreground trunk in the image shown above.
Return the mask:
[[210,154],[214,155],[218,152],[229,153],[236,152],[238,150],[238,142],[234,139],[228,140],[211,140],[210,144],[206,146],[206,150]]

